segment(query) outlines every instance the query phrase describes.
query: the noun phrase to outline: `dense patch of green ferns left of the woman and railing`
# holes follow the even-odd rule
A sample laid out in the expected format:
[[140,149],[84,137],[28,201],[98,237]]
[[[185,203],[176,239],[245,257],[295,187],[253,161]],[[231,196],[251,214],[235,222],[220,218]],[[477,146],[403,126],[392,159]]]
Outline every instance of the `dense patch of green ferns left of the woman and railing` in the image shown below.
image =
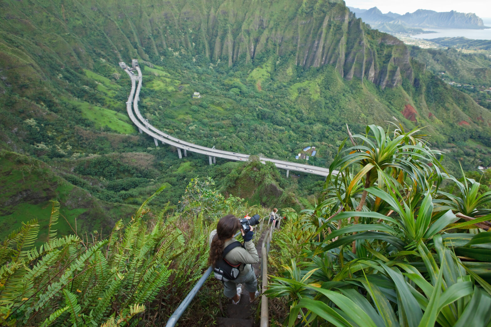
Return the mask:
[[[146,205],[162,190],[143,203],[126,227],[117,221],[107,240],[88,248],[76,235],[57,237],[56,201],[46,243],[33,246],[36,220],[11,233],[0,244],[0,323],[136,326],[143,304],[159,294],[187,293],[206,266],[208,222],[202,213],[164,218],[168,203],[144,221]],[[164,303],[164,310],[173,309]],[[5,308],[12,308],[11,313]]]

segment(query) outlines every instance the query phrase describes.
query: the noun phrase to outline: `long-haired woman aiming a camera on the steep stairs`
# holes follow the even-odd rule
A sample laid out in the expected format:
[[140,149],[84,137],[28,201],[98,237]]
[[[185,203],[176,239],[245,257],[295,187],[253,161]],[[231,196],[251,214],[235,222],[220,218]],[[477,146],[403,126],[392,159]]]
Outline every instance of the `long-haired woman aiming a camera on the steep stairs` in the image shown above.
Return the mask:
[[[242,232],[244,245],[234,238],[235,233],[239,229]],[[247,292],[249,292],[251,303],[259,296],[256,275],[251,265],[259,262],[256,247],[252,243],[253,236],[253,227],[250,226],[250,230],[245,233],[239,218],[234,215],[227,215],[221,218],[218,221],[217,229],[213,230],[210,234],[209,242],[211,248],[208,264],[216,268],[218,263],[223,265],[221,261],[223,259],[225,264],[238,269],[237,277],[234,276],[235,279],[220,279],[223,282],[223,294],[227,298],[232,299],[233,304],[238,304],[241,299],[242,284],[244,284]],[[229,245],[230,247],[226,249]],[[224,250],[226,251],[225,255],[223,255]],[[215,275],[217,277],[217,274]]]

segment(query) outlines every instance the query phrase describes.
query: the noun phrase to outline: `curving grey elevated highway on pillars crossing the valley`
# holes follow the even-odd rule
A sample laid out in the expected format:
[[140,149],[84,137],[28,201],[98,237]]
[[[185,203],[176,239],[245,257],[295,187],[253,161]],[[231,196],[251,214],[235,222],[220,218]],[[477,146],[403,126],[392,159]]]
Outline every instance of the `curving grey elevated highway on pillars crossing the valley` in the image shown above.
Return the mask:
[[[135,62],[134,62],[135,63]],[[125,66],[126,67],[126,66]],[[136,76],[133,71],[130,71],[127,67],[124,69],[125,72],[130,76],[132,82],[132,88],[130,92],[130,96],[128,97],[128,101],[126,102],[126,110],[128,112],[128,116],[131,121],[138,127],[140,133],[145,133],[149,136],[152,136],[155,141],[155,145],[158,146],[158,141],[161,141],[162,144],[169,144],[175,146],[178,149],[179,158],[182,158],[181,149],[184,150],[184,155],[187,156],[187,151],[203,154],[209,157],[210,164],[215,163],[215,158],[224,158],[228,160],[235,161],[247,161],[249,155],[236,153],[231,151],[218,150],[214,148],[208,148],[205,146],[197,145],[194,143],[186,142],[174,136],[170,136],[165,134],[161,130],[152,126],[140,113],[138,109],[138,101],[139,101],[139,93],[141,90],[142,84],[142,74],[139,65],[134,64],[134,68],[138,72],[138,76]],[[136,86],[136,81],[138,81],[138,85]],[[136,87],[136,89],[135,89]],[[133,105],[133,106],[132,106]],[[133,107],[133,109],[132,109]],[[136,114],[136,116],[135,116]],[[329,169],[325,167],[318,167],[308,164],[297,164],[283,160],[270,159],[265,157],[259,157],[259,160],[262,163],[266,163],[267,161],[275,164],[276,167],[285,169],[287,171],[287,176],[290,170],[293,171],[301,171],[304,173],[315,174],[320,176],[327,176],[329,174]],[[337,173],[337,172],[335,172]]]

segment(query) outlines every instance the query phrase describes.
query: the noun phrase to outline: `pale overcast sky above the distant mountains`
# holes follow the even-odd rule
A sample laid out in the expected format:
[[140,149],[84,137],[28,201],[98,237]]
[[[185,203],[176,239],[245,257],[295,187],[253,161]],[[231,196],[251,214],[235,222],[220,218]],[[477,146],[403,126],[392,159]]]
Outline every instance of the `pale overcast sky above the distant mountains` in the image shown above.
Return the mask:
[[405,14],[414,12],[417,9],[430,9],[435,11],[471,12],[481,18],[491,18],[491,1],[490,0],[345,0],[346,5],[360,9],[379,8],[382,13],[389,11]]

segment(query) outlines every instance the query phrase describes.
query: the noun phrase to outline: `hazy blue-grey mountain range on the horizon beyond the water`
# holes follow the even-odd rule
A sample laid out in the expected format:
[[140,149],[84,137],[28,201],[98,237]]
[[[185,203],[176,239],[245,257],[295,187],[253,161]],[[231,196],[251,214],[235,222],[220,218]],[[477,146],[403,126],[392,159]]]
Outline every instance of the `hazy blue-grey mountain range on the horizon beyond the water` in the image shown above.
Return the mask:
[[372,28],[388,33],[417,34],[424,31],[422,28],[468,28],[483,29],[483,20],[473,13],[457,11],[436,12],[433,10],[418,9],[413,13],[404,15],[388,12],[383,14],[379,8],[359,9],[348,7],[356,17],[370,24]]

